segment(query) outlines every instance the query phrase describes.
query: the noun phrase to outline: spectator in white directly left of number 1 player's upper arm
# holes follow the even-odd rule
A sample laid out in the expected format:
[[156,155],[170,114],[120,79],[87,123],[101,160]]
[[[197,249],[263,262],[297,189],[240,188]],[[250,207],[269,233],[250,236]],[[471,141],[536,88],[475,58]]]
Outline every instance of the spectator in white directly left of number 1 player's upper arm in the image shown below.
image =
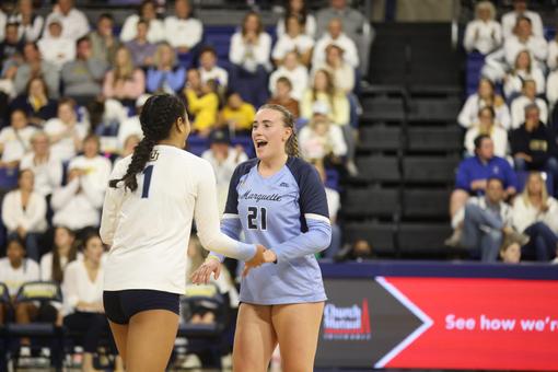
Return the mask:
[[50,199],[54,225],[74,231],[98,226],[103,193],[85,179],[82,170],[68,167],[68,184],[57,188]]

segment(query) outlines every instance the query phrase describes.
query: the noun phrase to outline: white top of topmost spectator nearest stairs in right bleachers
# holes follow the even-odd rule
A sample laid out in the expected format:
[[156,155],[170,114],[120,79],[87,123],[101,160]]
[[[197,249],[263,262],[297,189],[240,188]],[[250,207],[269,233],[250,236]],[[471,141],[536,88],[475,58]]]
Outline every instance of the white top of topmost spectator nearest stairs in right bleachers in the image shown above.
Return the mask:
[[478,50],[489,54],[502,44],[502,26],[497,21],[474,20],[465,28],[463,46],[468,53]]

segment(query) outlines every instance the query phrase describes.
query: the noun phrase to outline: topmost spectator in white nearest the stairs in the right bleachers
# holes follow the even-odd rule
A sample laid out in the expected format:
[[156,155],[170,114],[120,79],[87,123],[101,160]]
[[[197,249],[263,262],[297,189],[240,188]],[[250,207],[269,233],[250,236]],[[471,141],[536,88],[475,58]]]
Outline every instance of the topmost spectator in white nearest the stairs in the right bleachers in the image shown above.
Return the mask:
[[488,55],[502,44],[502,26],[496,19],[490,1],[479,1],[475,7],[475,20],[467,23],[463,46],[467,53],[477,50]]

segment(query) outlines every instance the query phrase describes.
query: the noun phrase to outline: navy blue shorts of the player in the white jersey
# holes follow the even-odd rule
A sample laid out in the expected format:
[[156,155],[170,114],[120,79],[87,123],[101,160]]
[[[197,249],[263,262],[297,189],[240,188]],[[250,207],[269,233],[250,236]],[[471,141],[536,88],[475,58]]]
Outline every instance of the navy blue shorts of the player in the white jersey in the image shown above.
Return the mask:
[[167,310],[179,315],[181,297],[177,293],[148,289],[104,291],[106,317],[116,324],[128,324],[130,318],[148,310]]

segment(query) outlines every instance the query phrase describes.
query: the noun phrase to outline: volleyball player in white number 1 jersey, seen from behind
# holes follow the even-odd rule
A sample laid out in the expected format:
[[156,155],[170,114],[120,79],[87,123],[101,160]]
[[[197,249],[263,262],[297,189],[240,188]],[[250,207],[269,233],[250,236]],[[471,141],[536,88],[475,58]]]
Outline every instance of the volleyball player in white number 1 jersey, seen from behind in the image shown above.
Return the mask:
[[152,96],[140,121],[144,138],[116,163],[105,196],[103,302],[126,370],[158,372],[176,337],[193,219],[206,248],[249,266],[264,261],[265,248],[220,232],[211,165],[183,150],[190,125],[182,102]]

